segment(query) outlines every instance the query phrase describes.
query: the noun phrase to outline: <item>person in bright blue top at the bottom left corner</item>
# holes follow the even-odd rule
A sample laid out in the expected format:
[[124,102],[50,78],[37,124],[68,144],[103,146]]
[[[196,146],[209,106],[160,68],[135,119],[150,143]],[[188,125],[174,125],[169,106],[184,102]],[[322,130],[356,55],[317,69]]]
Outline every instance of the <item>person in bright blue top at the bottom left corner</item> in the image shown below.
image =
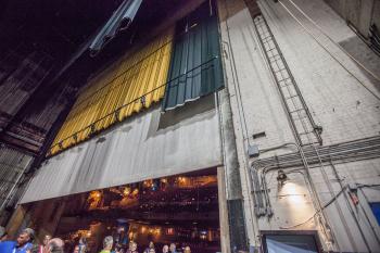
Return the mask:
[[17,237],[16,241],[0,242],[1,253],[27,253],[33,248],[35,230],[25,228]]

